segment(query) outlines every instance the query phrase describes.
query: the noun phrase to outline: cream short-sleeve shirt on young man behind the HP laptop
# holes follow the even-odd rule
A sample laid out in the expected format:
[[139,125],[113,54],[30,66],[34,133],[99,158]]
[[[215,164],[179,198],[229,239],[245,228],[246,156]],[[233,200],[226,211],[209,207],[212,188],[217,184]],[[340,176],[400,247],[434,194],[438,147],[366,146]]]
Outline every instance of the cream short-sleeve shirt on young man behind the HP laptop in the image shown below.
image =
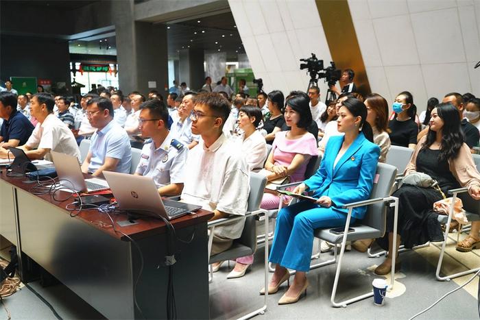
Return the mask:
[[[182,201],[206,210],[219,210],[244,216],[250,192],[248,165],[241,149],[221,134],[210,147],[199,145],[189,151],[185,166]],[[215,227],[215,235],[236,239],[241,236],[245,219]]]

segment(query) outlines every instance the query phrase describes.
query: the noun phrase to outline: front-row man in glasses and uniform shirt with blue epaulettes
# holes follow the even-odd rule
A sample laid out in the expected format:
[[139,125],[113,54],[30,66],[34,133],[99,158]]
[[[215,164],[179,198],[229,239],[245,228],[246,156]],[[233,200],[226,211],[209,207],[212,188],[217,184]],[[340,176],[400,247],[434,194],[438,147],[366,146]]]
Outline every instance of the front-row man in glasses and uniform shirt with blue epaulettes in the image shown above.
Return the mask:
[[189,148],[169,132],[169,112],[163,101],[146,101],[140,110],[140,132],[143,137],[152,138],[152,142],[143,146],[135,174],[152,177],[160,195],[180,195]]

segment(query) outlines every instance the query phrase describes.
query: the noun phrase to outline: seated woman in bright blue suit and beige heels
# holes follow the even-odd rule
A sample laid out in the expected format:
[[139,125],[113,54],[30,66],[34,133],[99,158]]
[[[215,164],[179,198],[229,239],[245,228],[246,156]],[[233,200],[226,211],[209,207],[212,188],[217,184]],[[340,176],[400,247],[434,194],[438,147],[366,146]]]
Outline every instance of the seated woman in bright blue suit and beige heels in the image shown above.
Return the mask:
[[[344,227],[348,210],[345,204],[370,197],[380,148],[373,141],[367,121],[367,108],[355,98],[346,99],[339,110],[337,127],[344,136],[331,137],[320,169],[298,186],[294,193],[313,191],[316,202],[300,201],[278,213],[270,262],[276,263],[269,283],[269,293],[289,279],[289,269],[296,270],[293,284],[278,301],[291,304],[307,290],[306,272],[310,269],[313,230],[319,227]],[[366,208],[352,210],[350,223],[363,219]],[[265,288],[261,293],[265,292]]]

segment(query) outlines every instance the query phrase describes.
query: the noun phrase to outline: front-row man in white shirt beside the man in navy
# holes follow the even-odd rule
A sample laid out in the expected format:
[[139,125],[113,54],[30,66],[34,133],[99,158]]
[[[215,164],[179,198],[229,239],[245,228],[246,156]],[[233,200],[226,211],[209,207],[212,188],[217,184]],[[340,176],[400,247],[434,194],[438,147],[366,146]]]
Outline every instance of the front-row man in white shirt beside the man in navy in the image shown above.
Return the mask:
[[[19,148],[32,160],[45,158],[51,161],[50,151],[57,151],[75,156],[80,162],[80,149],[75,136],[67,125],[53,114],[54,104],[55,101],[48,93],[36,93],[32,97],[30,112],[38,123],[27,143]],[[0,158],[8,158],[8,152],[0,147]]]

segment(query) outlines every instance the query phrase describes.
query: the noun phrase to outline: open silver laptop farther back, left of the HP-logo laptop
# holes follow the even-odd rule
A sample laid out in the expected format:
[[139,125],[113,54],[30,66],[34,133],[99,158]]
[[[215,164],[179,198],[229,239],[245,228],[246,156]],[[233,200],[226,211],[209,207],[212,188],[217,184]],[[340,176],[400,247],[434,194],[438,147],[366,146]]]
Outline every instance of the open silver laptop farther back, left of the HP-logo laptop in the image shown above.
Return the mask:
[[97,177],[85,179],[77,157],[50,151],[59,183],[65,188],[82,193],[94,193],[109,188],[108,183]]

